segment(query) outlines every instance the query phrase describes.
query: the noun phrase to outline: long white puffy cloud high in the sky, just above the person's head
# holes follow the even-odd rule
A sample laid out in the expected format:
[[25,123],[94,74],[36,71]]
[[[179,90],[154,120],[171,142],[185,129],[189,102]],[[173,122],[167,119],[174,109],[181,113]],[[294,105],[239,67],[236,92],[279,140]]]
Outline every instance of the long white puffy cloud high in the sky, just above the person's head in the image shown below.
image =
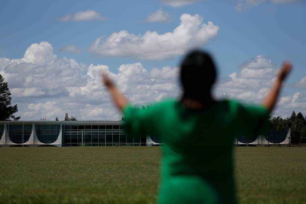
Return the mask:
[[99,57],[132,57],[139,60],[166,60],[184,54],[187,50],[200,48],[209,39],[218,36],[219,26],[198,14],[184,13],[180,25],[173,32],[159,34],[147,31],[135,35],[126,30],[115,32],[109,37],[99,37],[87,51]]

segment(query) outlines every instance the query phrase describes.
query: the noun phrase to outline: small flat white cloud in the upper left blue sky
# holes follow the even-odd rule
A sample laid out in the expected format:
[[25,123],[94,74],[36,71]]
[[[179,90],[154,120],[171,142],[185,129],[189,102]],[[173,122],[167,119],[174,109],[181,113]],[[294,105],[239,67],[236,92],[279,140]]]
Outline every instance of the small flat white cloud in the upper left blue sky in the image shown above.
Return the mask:
[[67,22],[70,20],[73,21],[86,21],[86,20],[106,20],[106,17],[103,17],[101,13],[98,13],[94,10],[79,11],[75,14],[66,14],[66,16],[60,17],[61,21]]

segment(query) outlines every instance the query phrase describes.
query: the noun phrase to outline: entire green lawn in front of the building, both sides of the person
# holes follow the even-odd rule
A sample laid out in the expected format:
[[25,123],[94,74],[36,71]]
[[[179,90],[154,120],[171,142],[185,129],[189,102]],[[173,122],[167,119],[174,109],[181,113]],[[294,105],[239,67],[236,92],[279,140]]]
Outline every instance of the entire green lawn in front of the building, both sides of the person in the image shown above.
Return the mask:
[[[235,147],[240,203],[306,203],[306,148]],[[0,203],[155,203],[159,147],[2,147]]]

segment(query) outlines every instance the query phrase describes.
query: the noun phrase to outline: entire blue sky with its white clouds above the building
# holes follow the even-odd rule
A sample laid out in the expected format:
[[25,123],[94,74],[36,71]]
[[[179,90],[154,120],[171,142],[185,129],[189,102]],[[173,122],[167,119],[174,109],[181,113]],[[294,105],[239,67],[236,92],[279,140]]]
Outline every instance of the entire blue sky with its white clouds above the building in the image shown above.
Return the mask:
[[[79,120],[116,120],[121,115],[107,99],[104,87],[98,87],[99,71],[107,69],[132,103],[152,103],[180,94],[176,67],[188,50],[200,46],[213,54],[218,65],[216,97],[244,102],[260,102],[276,68],[284,60],[292,61],[294,70],[274,114],[286,117],[294,109],[304,115],[305,8],[306,3],[298,0],[2,1],[0,74],[9,83],[12,103],[18,104],[17,114],[27,120],[45,115],[50,120],[62,119],[66,112]],[[191,21],[194,26],[188,27]],[[211,33],[203,34],[201,26],[208,21],[213,25]],[[198,27],[196,22],[200,22]],[[174,34],[181,24],[186,26]],[[147,31],[151,34],[144,36]],[[165,45],[162,34],[167,32],[171,33]],[[204,37],[196,37],[200,34]],[[115,42],[112,35],[121,40]],[[105,37],[93,46],[101,36]],[[31,47],[32,43],[37,46]],[[116,49],[110,48],[114,44]],[[75,53],[67,51],[73,45]],[[42,56],[39,47],[45,53]],[[26,56],[27,49],[33,55]],[[50,58],[54,54],[56,57]],[[25,68],[30,65],[31,69]],[[44,76],[37,77],[38,70]],[[57,73],[48,74],[52,70]],[[135,81],[133,77],[138,78]],[[72,82],[68,83],[68,78]],[[46,81],[49,85],[37,85]],[[136,91],[129,91],[135,87]]]

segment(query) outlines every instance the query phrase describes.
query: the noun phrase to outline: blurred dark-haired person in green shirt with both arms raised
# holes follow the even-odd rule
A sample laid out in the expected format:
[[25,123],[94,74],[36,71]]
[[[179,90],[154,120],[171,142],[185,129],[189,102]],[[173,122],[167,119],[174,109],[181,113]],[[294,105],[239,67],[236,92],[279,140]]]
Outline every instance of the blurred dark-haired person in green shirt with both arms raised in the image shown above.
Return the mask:
[[125,115],[127,133],[162,138],[157,203],[236,203],[234,138],[241,132],[257,137],[265,130],[291,68],[290,62],[282,65],[261,105],[245,106],[233,99],[212,97],[211,86],[217,76],[213,60],[207,53],[193,51],[181,64],[181,98],[143,110],[135,110],[102,74],[115,105]]

